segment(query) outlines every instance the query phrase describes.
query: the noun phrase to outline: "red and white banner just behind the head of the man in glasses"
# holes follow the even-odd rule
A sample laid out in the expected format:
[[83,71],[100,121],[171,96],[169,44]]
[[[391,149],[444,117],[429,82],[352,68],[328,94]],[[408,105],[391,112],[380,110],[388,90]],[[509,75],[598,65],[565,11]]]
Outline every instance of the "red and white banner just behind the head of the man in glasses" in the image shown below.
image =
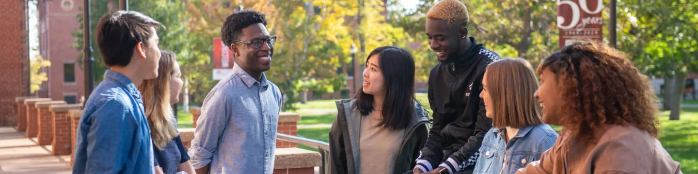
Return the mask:
[[213,79],[221,80],[225,75],[232,72],[232,66],[235,65],[235,57],[228,46],[223,43],[221,38],[214,38],[214,72]]

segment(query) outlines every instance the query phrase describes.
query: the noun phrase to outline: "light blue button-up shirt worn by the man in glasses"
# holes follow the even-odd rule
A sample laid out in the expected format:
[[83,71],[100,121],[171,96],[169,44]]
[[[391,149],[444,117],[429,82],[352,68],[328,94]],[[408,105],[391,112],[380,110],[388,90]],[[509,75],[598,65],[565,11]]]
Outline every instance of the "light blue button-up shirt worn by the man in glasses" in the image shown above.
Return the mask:
[[262,73],[255,80],[237,63],[206,96],[189,156],[210,173],[274,172],[279,87]]

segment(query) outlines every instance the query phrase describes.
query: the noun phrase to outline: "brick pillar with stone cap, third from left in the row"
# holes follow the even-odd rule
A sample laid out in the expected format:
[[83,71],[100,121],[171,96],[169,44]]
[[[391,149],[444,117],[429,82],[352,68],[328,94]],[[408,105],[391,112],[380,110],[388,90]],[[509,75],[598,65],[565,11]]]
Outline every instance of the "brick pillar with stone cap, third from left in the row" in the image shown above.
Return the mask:
[[50,145],[53,140],[53,116],[49,106],[54,104],[66,104],[66,101],[36,102],[38,133],[36,145]]

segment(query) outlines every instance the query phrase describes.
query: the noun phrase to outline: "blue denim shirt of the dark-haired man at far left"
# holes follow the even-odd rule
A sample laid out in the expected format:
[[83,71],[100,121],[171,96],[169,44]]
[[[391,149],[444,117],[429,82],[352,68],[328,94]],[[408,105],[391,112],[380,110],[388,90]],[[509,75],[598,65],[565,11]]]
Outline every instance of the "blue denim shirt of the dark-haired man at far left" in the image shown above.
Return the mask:
[[140,91],[107,70],[85,103],[73,173],[154,173],[153,145]]

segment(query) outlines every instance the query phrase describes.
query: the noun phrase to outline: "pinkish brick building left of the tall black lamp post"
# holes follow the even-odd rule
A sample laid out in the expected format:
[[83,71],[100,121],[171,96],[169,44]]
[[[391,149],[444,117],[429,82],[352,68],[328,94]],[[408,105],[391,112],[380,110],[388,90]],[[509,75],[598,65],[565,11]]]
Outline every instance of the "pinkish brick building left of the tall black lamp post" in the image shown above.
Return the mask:
[[70,45],[75,44],[73,32],[82,24],[75,18],[82,14],[82,1],[39,0],[37,6],[39,54],[51,61],[51,66],[44,70],[48,81],[41,85],[38,96],[78,103],[84,90],[84,75],[78,62],[82,52]]

